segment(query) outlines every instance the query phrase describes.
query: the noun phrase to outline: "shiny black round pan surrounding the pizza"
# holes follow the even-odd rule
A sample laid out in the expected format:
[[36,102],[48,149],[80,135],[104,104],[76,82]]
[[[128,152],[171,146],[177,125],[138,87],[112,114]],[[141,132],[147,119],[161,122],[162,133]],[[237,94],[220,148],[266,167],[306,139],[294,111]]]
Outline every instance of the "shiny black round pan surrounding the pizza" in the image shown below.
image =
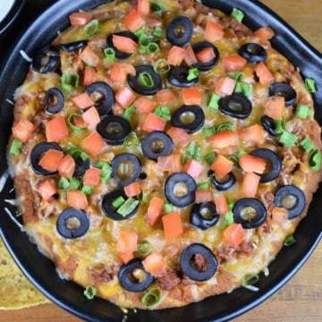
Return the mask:
[[[68,25],[69,13],[79,9],[88,10],[105,2],[58,1],[33,22],[14,47],[8,50],[6,63],[2,66],[0,75],[0,169],[3,174],[0,180],[0,207],[3,209],[0,213],[0,233],[21,270],[41,292],[62,308],[88,321],[121,321],[123,312],[108,301],[88,301],[83,296],[80,286],[60,279],[51,261],[38,252],[36,246],[29,242],[27,235],[21,232],[21,228],[16,224],[21,216],[17,216],[16,210],[4,201],[14,199],[13,182],[11,179],[5,180],[8,177],[5,150],[13,121],[13,106],[7,99],[13,100],[14,90],[28,72],[29,63],[21,58],[20,50],[24,50],[30,56],[34,55],[39,48],[47,45],[50,39],[55,38],[57,30],[63,30]],[[275,49],[284,54],[296,67],[300,67],[304,77],[314,78],[317,84],[322,84],[322,56],[265,5],[249,0],[209,0],[204,1],[204,4],[216,6],[225,13],[230,13],[233,7],[241,9],[246,13],[243,22],[253,30],[270,25],[277,33],[273,39]],[[322,86],[318,85],[314,100],[316,118],[321,124]],[[252,309],[285,284],[317,246],[322,235],[322,211],[319,207],[321,199],[322,188],[319,187],[309,207],[309,215],[302,220],[295,233],[298,242],[279,253],[269,266],[268,276],[260,275],[256,284],[258,292],[240,288],[229,294],[210,297],[179,309],[138,310],[137,313],[130,310],[128,321],[221,321],[235,318]],[[13,215],[9,216],[10,212]]]

